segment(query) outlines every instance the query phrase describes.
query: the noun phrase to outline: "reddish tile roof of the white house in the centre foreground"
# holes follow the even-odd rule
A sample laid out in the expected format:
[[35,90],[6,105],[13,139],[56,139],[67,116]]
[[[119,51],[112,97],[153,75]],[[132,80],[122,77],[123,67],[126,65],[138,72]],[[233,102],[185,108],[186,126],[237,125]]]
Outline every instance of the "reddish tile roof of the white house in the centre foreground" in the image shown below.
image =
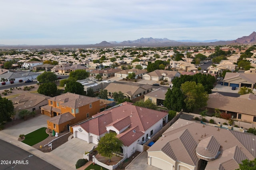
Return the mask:
[[[166,117],[168,113],[152,110],[144,107],[133,106],[132,103],[124,102],[120,106],[112,107],[92,116],[92,119],[82,123],[80,126],[88,133],[103,135],[106,127],[113,125],[116,129],[122,129],[129,125],[128,129],[118,134],[124,145],[134,143],[134,139],[141,137],[158,121]],[[120,122],[119,122],[120,121]],[[136,137],[132,136],[132,129],[136,130]]]

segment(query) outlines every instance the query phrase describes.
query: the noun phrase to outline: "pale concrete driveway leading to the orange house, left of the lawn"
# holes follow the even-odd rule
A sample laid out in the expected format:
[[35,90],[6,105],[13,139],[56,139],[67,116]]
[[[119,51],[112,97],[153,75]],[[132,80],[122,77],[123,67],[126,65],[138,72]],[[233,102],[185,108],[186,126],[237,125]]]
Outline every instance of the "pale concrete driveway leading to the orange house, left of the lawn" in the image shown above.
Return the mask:
[[31,133],[37,129],[40,129],[41,127],[47,127],[47,119],[49,119],[47,115],[39,115],[36,117],[33,117],[32,119],[28,119],[22,123],[19,123],[18,125],[9,127],[8,129],[2,130],[3,133],[6,133],[8,135],[12,135],[13,137],[19,137],[20,134],[28,134]]

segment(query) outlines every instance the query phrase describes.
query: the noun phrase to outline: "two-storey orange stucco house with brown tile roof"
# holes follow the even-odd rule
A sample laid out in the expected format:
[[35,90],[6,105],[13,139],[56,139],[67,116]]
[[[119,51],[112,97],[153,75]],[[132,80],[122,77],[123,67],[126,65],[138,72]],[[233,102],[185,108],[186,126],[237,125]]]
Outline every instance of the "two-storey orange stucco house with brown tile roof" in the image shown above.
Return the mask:
[[65,93],[48,99],[48,105],[41,107],[41,113],[50,117],[47,120],[48,128],[60,133],[69,130],[70,125],[100,112],[100,108],[97,98]]

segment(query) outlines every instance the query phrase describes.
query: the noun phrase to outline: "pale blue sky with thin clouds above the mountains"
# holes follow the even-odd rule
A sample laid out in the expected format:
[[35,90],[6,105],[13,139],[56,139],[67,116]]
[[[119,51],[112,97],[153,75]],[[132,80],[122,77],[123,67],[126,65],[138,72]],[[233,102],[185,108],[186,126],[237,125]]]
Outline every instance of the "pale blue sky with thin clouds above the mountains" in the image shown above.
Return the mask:
[[256,31],[255,9],[255,0],[3,0],[0,44],[233,40]]

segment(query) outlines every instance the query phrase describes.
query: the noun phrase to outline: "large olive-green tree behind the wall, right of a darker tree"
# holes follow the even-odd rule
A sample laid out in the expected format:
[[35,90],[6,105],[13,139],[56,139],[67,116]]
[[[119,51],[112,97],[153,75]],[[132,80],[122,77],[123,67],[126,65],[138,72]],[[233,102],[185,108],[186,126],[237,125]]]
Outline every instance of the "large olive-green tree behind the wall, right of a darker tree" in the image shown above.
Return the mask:
[[181,85],[183,94],[185,95],[184,102],[186,109],[192,111],[193,109],[200,109],[207,105],[208,94],[204,91],[204,86],[196,82],[185,82]]

